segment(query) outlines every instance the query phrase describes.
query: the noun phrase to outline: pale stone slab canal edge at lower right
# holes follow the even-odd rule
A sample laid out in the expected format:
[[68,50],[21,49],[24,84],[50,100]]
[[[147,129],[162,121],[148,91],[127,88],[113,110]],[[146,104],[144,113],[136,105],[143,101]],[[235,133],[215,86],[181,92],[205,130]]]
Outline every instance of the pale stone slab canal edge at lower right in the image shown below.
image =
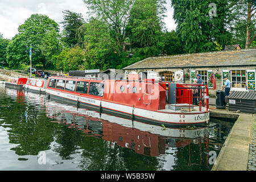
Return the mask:
[[239,113],[212,171],[246,171],[255,114]]

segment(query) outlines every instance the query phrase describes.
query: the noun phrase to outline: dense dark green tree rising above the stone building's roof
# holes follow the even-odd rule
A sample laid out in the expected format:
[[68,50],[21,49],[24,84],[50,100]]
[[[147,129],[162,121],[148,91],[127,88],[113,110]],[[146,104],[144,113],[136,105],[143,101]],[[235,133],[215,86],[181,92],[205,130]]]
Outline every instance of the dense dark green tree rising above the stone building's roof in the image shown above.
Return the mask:
[[[216,5],[216,16],[210,14]],[[172,0],[176,32],[187,52],[214,51],[214,43],[222,47],[230,39],[226,30],[228,2],[226,0]]]

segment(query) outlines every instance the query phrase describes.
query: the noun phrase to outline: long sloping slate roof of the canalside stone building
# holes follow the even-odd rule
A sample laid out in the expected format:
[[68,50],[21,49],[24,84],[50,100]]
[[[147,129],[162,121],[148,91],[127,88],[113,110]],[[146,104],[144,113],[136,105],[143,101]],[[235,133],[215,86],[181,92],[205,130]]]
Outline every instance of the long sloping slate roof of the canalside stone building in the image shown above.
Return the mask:
[[256,67],[256,49],[148,57],[123,69]]

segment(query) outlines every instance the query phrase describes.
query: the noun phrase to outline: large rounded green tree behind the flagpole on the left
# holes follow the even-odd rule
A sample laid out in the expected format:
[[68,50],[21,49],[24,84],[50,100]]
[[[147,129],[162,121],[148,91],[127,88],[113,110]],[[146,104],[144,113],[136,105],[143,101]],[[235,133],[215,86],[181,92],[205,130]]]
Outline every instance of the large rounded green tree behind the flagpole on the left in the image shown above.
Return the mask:
[[[55,35],[59,34],[58,24],[49,19],[46,15],[32,14],[22,25],[18,28],[18,34],[14,36],[11,43],[7,47],[7,63],[11,67],[18,66],[20,63],[30,64],[29,51],[32,46],[32,64],[42,63],[46,65],[48,50],[57,50],[57,48],[42,47],[51,44],[56,46],[58,42]],[[52,36],[51,39],[49,36]],[[54,43],[47,43],[53,41]],[[45,51],[46,50],[46,51]],[[51,53],[57,53],[53,51]]]

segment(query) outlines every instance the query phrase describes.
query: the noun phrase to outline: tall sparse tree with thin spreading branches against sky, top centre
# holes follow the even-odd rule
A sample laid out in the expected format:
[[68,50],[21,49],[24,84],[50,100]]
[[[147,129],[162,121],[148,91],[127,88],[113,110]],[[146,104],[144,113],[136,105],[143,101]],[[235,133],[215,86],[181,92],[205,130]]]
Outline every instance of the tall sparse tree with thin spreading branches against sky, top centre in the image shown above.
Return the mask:
[[118,55],[122,55],[127,34],[125,28],[130,18],[130,10],[135,0],[83,0],[91,15],[104,21],[110,35],[118,45]]

